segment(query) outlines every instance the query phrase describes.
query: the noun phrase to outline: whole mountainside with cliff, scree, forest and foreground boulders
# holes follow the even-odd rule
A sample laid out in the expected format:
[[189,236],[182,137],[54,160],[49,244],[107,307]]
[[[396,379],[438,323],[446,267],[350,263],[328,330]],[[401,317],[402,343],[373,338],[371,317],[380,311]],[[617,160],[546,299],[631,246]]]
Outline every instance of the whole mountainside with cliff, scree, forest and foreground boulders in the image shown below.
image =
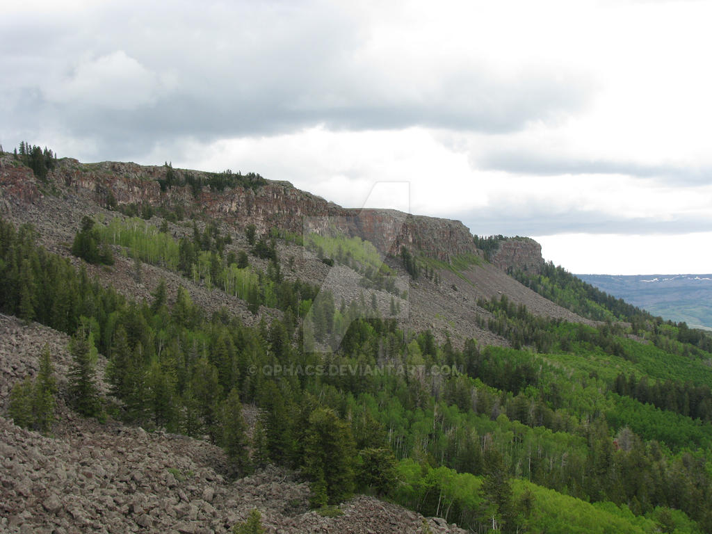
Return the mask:
[[0,167],[0,400],[40,391],[14,386],[44,342],[60,384],[53,437],[0,422],[9,530],[224,532],[253,506],[286,532],[712,530],[712,338],[536,286],[533,241],[493,264],[456,221],[255,174]]

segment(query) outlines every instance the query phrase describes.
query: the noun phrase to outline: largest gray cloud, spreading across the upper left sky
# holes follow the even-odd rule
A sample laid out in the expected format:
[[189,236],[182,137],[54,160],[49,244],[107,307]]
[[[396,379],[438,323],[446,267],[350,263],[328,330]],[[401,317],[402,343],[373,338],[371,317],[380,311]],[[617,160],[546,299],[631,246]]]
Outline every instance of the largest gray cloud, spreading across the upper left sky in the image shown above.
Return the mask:
[[91,139],[93,148],[77,155],[85,158],[137,157],[181,137],[210,141],[318,124],[512,132],[559,120],[589,98],[575,73],[544,68],[505,78],[471,63],[443,68],[428,83],[402,78],[391,72],[400,58],[360,57],[365,21],[319,3],[216,2],[199,10],[126,3],[9,19],[0,22],[0,68],[23,68],[0,86],[10,119],[2,135]]

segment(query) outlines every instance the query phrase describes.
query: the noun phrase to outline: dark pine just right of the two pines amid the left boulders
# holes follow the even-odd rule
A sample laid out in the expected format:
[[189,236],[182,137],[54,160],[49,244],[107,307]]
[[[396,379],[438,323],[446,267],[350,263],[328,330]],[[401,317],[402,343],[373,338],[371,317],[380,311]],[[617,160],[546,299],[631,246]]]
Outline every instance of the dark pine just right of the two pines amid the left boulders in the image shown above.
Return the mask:
[[69,395],[72,407],[86,417],[98,417],[101,412],[96,371],[92,363],[90,344],[83,335],[70,342],[72,365],[69,370]]

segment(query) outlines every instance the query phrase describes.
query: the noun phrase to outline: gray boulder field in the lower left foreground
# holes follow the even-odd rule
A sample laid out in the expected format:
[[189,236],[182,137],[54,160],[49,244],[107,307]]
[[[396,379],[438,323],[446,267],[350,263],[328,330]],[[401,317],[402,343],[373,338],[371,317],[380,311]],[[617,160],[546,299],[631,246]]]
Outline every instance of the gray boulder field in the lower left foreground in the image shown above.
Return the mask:
[[[0,414],[11,385],[36,373],[45,342],[62,390],[67,340],[0,317]],[[0,532],[228,533],[253,508],[268,533],[426,532],[421,515],[368,496],[325,518],[308,509],[308,483],[281,468],[231,481],[223,452],[206,441],[99,424],[73,414],[61,399],[58,417],[53,437],[0,417]],[[426,524],[434,534],[464,533],[439,518]]]

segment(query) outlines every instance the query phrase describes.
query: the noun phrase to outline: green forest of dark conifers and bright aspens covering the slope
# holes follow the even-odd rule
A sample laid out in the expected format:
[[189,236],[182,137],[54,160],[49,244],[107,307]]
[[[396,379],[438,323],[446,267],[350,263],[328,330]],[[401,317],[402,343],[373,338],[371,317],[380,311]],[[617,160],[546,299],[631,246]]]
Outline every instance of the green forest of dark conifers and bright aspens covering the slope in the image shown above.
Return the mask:
[[[313,311],[315,331],[325,342],[343,340],[335,352],[307,352],[300,319],[320,299],[317,288],[282,275],[280,238],[253,236],[243,256],[226,252],[229,236],[210,224],[177,240],[140,219],[89,223],[72,247],[77,256],[96,252],[102,261],[113,249],[244,298],[255,312],[283,310],[284,319],[248,327],[226,310],[206,315],[184,289],[169,304],[165,283],[151,300],[127,300],[39,246],[31,226],[0,220],[0,310],[72,336],[66,400],[86,417],[207,435],[234,476],[268,462],[298,468],[315,508],[358,492],[473,532],[712,531],[706,335],[545,271],[540,284],[557,288],[562,302],[587,304],[592,314],[600,306],[627,323],[540,318],[501,297],[479,303],[489,315],[478,322],[511,347],[467,340],[456,349],[326,298]],[[316,246],[328,256],[334,244]],[[348,245],[340,245],[345,258]],[[261,251],[266,272],[248,257]],[[98,358],[108,362],[106,397]],[[51,355],[41,361],[36,381],[14,389],[11,415],[49,433],[57,392]],[[266,372],[318,365],[416,371]],[[244,404],[258,407],[251,437],[239,416]]]

